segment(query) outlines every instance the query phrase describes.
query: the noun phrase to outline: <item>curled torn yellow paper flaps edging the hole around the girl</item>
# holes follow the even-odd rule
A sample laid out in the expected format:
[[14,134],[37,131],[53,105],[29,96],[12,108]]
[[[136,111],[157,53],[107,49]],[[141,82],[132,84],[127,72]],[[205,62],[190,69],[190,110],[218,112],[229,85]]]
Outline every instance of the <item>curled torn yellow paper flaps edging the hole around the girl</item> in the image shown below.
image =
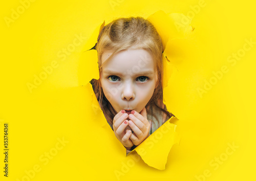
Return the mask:
[[[172,57],[173,53],[172,46],[170,46],[169,43],[175,39],[185,39],[186,37],[190,36],[194,28],[189,25],[191,19],[181,13],[166,14],[163,11],[158,11],[149,16],[147,19],[151,21],[152,24],[156,27],[163,41],[163,98],[164,104],[168,109],[168,102],[165,101],[165,97],[168,96],[168,93],[164,90],[166,87],[169,86],[169,79],[172,74],[174,72],[178,72],[177,66],[175,64],[175,58],[168,59],[168,56]],[[95,110],[95,117],[98,117],[100,115],[99,117],[101,119],[104,118],[103,112],[99,107],[92,86],[89,83],[92,79],[99,79],[97,51],[90,49],[95,46],[98,34],[104,25],[105,21],[103,22],[103,24],[99,25],[96,28],[91,38],[84,46],[83,52],[80,56],[78,67],[79,85],[84,85],[86,86],[86,88],[90,89],[90,92],[92,93],[92,100],[89,103],[91,103],[93,110]],[[169,110],[169,112],[172,112],[175,115],[174,111]],[[177,125],[174,124],[174,122],[177,121],[178,119],[176,117],[170,118],[152,135],[150,135],[150,137],[144,140],[131,152],[136,151],[148,166],[154,167],[159,170],[164,170],[170,149],[173,147],[174,144],[179,144],[181,140],[181,134],[177,132]],[[105,119],[100,121],[98,120],[98,123],[99,127],[111,129]],[[116,141],[118,140],[116,139]],[[125,155],[125,148],[123,147],[121,149],[124,149]],[[129,156],[129,154],[127,156]]]

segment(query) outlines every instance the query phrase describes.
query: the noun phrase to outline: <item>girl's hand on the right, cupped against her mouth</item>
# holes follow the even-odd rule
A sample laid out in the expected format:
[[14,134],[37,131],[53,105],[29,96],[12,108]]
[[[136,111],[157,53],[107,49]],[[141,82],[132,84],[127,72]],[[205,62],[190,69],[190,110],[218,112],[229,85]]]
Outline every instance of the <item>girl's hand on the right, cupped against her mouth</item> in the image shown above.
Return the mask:
[[129,118],[129,126],[134,131],[130,139],[134,145],[139,145],[150,136],[150,123],[147,121],[146,108],[144,107],[140,113],[132,110]]

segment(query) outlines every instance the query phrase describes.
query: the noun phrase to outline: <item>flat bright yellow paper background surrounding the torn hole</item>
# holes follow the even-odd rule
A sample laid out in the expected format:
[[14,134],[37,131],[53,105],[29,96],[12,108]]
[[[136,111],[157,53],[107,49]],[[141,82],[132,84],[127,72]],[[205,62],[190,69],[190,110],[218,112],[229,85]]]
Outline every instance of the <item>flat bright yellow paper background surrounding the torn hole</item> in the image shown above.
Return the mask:
[[[11,18],[12,9],[17,11],[23,6],[21,2],[6,1],[0,11],[0,138],[4,123],[8,123],[10,149],[9,177],[4,177],[1,169],[1,180],[256,178],[256,44],[236,65],[228,62],[229,56],[243,49],[246,40],[256,42],[255,4],[204,1],[205,6],[191,21],[195,39],[184,52],[177,53],[184,57],[174,62],[180,73],[173,76],[173,86],[168,89],[171,96],[166,100],[172,103],[169,111],[179,119],[180,145],[170,150],[165,170],[139,160],[117,177],[116,171],[121,172],[135,155],[125,157],[113,131],[99,127],[104,118],[93,118],[97,110],[90,106],[89,87],[78,84],[83,46],[103,20],[128,15],[147,17],[158,10],[187,15],[195,12],[193,7],[200,1],[35,1],[7,25],[6,17]],[[79,35],[84,37],[80,45],[61,58],[59,51],[67,49]],[[34,75],[39,76],[43,67],[55,61],[58,66],[30,92],[27,83],[33,83]],[[203,88],[204,80],[209,81],[214,76],[212,71],[220,71],[223,65],[228,72],[200,97],[197,88]],[[67,143],[61,147],[62,139]],[[2,152],[4,140],[0,143]],[[232,144],[238,148],[228,155]],[[54,156],[47,159],[47,152],[54,150],[57,153],[52,152]],[[3,153],[0,158],[3,168]],[[225,161],[217,164],[216,158]],[[32,175],[28,179],[27,173]]]

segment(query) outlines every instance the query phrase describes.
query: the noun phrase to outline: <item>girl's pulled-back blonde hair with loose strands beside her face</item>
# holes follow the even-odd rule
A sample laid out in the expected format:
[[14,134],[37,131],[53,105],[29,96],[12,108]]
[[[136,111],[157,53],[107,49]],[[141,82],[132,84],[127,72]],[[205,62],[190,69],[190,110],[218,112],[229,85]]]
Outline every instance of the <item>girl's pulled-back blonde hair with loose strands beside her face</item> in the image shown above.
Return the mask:
[[[92,48],[98,52],[99,74],[101,74],[104,63],[108,62],[116,53],[131,47],[144,49],[150,52],[155,60],[154,70],[157,72],[158,80],[153,96],[145,106],[147,114],[156,117],[149,109],[150,105],[153,105],[165,112],[168,117],[172,117],[172,114],[161,108],[159,105],[159,101],[162,103],[163,96],[163,44],[161,37],[150,21],[143,17],[118,18],[104,26],[99,33],[98,42]],[[102,64],[101,57],[105,51],[111,51],[113,53]],[[106,120],[109,124],[113,125],[113,118],[117,112],[114,110],[108,99],[106,99],[101,87],[100,79],[92,79],[91,84]]]

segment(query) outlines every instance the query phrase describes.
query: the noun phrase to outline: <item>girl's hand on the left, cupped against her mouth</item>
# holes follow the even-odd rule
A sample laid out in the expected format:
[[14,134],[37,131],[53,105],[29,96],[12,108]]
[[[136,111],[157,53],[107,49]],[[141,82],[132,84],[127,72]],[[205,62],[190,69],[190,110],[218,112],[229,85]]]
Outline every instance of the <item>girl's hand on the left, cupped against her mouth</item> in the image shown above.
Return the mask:
[[[125,128],[129,125],[128,114],[125,113],[125,110],[121,110],[116,114],[113,119],[113,130],[116,135],[116,138],[123,144],[126,149],[130,149],[134,144],[130,140],[132,131]],[[128,126],[129,127],[129,126]]]

